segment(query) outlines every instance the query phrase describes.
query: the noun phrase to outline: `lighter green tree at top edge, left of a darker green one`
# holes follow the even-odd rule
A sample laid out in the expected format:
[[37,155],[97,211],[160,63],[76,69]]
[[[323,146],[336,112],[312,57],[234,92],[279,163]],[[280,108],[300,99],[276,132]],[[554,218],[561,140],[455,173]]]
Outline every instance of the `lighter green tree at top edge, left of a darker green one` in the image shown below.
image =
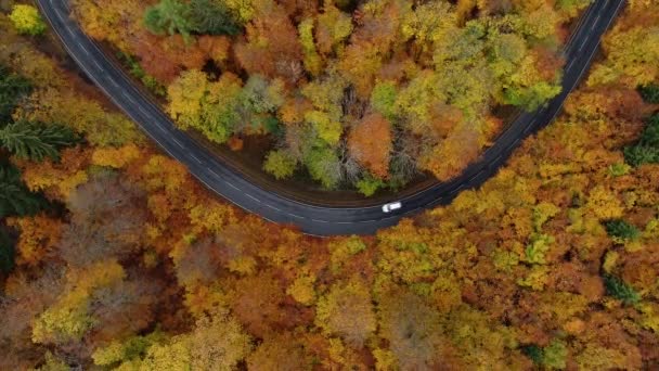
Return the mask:
[[190,40],[190,33],[195,28],[190,5],[178,0],[161,0],[148,8],[144,26],[155,35],[181,34],[185,40]]

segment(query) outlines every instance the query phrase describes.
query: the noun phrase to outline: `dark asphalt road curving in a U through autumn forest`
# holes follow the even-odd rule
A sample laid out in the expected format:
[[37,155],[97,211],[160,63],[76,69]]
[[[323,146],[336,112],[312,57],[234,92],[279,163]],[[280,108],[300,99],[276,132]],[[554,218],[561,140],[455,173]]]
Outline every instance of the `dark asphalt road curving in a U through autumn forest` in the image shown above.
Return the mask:
[[[140,125],[170,156],[184,164],[208,189],[243,209],[277,223],[296,225],[309,234],[366,234],[389,227],[402,217],[425,208],[450,203],[462,190],[477,188],[496,174],[519,142],[548,125],[587,71],[604,33],[624,4],[624,0],[595,0],[581,17],[565,48],[566,67],[563,92],[533,113],[519,115],[460,177],[436,183],[400,200],[402,208],[390,214],[382,204],[360,207],[323,207],[292,200],[246,180],[192,138],[178,130],[171,119],[115,65],[69,17],[67,0],[37,0],[42,13],[64,47],[82,71],[109,99]],[[399,201],[399,200],[392,200]],[[364,202],[364,204],[367,203]]]

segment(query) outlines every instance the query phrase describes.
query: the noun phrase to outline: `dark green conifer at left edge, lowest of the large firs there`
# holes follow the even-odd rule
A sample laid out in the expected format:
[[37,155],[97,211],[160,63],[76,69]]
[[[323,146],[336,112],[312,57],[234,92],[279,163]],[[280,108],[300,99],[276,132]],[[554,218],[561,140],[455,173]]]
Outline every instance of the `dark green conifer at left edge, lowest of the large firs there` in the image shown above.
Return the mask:
[[35,215],[47,205],[43,196],[31,193],[23,184],[16,167],[0,164],[0,218]]

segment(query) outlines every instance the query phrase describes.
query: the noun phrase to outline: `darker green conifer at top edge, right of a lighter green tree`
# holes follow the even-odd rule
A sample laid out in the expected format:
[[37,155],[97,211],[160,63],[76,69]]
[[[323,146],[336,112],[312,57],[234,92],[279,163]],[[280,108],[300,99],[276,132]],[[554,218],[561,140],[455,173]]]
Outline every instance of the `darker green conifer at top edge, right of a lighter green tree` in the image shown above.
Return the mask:
[[237,35],[242,25],[223,1],[192,0],[190,20],[195,31],[210,35]]

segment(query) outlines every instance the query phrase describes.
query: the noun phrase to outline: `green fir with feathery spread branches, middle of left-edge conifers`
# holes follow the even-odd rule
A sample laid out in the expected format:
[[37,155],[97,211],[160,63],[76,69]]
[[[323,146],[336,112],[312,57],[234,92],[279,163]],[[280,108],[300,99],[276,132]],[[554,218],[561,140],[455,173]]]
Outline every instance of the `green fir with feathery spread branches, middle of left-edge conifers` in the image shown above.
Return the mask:
[[17,157],[43,161],[59,159],[59,150],[79,140],[69,128],[62,125],[43,125],[20,120],[0,129],[0,142]]

